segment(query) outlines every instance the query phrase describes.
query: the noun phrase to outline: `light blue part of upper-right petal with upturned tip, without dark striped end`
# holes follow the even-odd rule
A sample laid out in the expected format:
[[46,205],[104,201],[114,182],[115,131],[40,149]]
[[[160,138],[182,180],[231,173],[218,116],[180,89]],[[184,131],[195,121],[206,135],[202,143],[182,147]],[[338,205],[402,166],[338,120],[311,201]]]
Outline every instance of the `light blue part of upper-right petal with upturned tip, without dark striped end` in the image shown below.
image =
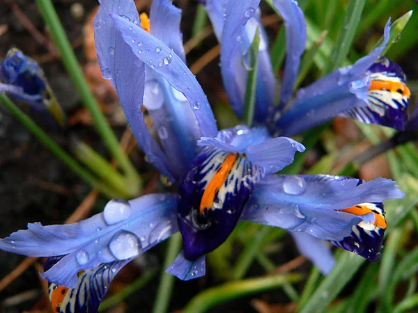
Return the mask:
[[354,65],[342,67],[297,92],[295,102],[274,118],[277,133],[293,136],[311,129],[353,108],[369,104],[371,83],[369,67],[378,60],[389,40],[390,19],[380,47],[360,58]]

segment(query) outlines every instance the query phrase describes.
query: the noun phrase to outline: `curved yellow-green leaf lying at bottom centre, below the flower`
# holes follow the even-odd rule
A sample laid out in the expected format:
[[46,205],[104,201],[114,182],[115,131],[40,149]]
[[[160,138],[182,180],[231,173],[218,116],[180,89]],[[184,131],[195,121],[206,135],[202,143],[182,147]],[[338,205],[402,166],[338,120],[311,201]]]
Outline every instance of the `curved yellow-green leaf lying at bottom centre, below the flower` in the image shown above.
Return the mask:
[[210,307],[233,298],[274,289],[291,282],[299,282],[301,279],[302,277],[299,274],[288,274],[227,282],[222,286],[207,289],[192,298],[183,310],[183,313],[206,312]]

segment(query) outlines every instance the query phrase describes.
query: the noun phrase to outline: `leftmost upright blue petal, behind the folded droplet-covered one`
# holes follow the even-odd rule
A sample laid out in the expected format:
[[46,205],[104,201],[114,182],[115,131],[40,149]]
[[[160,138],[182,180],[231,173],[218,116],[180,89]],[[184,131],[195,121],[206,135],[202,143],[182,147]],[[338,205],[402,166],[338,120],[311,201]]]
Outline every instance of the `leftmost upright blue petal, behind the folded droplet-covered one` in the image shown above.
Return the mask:
[[[174,181],[169,159],[160,145],[150,135],[141,111],[144,99],[145,66],[139,62],[109,14],[123,16],[132,24],[139,24],[139,15],[132,0],[101,0],[100,8],[93,22],[95,49],[98,54],[100,70],[104,79],[109,79],[118,93],[127,122],[150,163],[160,170],[162,175]],[[139,27],[139,26],[137,26]]]

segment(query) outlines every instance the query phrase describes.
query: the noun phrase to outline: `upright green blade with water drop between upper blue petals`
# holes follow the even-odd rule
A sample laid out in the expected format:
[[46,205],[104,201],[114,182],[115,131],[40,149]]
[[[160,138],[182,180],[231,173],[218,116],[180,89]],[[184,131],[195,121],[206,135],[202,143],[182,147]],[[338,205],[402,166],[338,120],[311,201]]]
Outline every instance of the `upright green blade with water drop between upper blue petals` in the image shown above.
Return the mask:
[[256,34],[254,35],[254,40],[251,43],[247,53],[249,71],[247,77],[247,89],[245,90],[244,114],[242,116],[242,120],[248,127],[251,127],[253,124],[254,112],[256,109],[259,46],[260,29],[257,27]]

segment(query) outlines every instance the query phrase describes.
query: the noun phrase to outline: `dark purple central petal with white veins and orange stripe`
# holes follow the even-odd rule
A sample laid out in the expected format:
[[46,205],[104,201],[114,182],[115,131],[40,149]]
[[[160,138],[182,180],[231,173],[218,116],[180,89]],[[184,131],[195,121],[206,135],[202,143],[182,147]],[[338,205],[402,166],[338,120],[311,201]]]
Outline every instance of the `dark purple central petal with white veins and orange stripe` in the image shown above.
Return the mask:
[[264,169],[245,155],[205,147],[180,184],[178,227],[184,256],[193,261],[223,243]]

